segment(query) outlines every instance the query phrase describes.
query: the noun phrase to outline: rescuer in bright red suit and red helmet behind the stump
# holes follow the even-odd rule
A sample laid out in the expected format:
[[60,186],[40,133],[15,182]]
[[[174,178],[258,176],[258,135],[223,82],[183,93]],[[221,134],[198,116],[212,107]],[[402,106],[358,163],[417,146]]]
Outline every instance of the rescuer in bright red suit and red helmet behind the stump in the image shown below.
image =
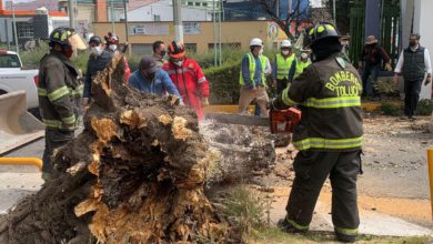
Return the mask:
[[203,119],[202,108],[209,105],[209,83],[199,63],[185,55],[183,43],[173,41],[169,48],[169,62],[164,63],[165,70],[184,104],[197,112],[199,120]]

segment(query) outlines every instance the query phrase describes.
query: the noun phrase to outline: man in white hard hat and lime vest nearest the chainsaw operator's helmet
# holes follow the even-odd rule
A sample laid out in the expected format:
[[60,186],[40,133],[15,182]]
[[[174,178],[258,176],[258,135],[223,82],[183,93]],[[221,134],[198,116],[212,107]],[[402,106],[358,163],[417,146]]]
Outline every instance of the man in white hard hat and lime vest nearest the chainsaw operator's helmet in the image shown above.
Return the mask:
[[289,82],[292,82],[296,71],[296,58],[292,53],[292,43],[290,40],[281,42],[281,52],[275,55],[272,69],[273,85],[276,85],[276,94],[280,94]]

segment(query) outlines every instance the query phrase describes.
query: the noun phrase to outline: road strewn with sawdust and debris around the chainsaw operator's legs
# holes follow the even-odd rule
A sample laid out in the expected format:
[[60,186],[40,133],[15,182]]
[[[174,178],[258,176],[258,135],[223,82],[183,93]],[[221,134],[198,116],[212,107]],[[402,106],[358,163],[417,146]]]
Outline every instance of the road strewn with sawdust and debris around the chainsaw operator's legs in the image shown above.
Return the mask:
[[[359,177],[358,189],[361,212],[374,211],[433,227],[426,162],[426,149],[433,146],[433,134],[427,132],[429,120],[426,116],[407,121],[379,115],[364,119],[364,173]],[[275,164],[271,171],[256,176],[255,184],[274,189],[275,197],[286,197],[294,179],[295,154],[292,145],[276,149]],[[326,181],[320,200],[331,203],[331,195]],[[278,201],[273,207],[284,209],[285,201]]]

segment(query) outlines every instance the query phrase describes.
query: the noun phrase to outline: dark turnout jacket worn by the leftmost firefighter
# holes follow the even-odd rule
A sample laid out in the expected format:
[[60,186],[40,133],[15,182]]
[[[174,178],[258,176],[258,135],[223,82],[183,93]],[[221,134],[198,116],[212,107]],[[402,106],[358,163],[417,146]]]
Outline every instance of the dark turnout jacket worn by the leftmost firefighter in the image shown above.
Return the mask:
[[47,129],[74,131],[81,88],[78,72],[61,53],[51,51],[39,68],[39,110]]

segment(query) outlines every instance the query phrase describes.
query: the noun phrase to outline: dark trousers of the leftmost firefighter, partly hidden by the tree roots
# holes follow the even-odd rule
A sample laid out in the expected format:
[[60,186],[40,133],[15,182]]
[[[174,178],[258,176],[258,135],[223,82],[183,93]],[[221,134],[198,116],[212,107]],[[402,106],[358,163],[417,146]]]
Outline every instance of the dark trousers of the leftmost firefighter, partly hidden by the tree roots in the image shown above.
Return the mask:
[[73,131],[60,131],[46,129],[46,149],[42,155],[42,179],[48,180],[53,175],[52,157],[54,150],[73,140]]

